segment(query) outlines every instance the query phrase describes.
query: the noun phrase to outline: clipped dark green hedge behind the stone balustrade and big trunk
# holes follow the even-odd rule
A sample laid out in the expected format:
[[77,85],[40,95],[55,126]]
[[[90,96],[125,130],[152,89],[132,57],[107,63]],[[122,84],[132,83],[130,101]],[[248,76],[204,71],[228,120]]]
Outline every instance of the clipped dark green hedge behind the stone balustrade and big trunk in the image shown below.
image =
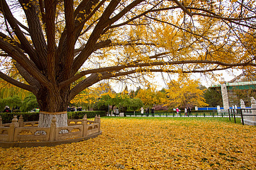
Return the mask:
[[[81,111],[81,112],[68,112],[68,119],[82,119],[84,115],[87,115],[87,118],[94,118],[95,115],[100,115],[100,117],[105,116],[105,111]],[[2,123],[11,123],[14,116],[17,116],[19,119],[22,115],[24,121],[38,121],[39,113],[38,112],[21,112],[21,113],[0,113],[2,117]]]

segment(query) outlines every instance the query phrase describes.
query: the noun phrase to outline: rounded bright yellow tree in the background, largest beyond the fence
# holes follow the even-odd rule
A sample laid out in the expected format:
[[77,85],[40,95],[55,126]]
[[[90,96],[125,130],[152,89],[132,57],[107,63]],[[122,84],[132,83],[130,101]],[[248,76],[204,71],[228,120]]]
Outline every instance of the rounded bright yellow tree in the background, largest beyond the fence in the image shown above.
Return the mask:
[[166,99],[162,99],[165,105],[169,107],[188,107],[188,106],[207,106],[203,98],[203,90],[199,89],[199,82],[196,80],[172,81],[166,89]]

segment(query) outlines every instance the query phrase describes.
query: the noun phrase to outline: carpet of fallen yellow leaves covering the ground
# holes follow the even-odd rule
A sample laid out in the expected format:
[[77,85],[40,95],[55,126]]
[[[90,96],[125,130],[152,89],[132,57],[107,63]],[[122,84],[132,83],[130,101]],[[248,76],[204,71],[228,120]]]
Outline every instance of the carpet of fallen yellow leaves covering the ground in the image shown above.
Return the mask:
[[216,118],[101,118],[101,128],[101,136],[79,143],[0,149],[0,169],[256,169],[253,126]]

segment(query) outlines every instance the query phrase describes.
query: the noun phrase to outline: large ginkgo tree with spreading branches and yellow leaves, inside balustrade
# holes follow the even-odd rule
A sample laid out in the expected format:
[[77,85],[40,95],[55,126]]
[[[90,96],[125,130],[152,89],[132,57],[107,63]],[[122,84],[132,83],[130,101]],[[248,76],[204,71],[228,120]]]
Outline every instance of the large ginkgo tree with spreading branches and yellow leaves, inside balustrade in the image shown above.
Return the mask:
[[35,94],[39,126],[53,114],[66,126],[69,101],[101,80],[255,69],[255,9],[254,0],[1,0],[0,78]]

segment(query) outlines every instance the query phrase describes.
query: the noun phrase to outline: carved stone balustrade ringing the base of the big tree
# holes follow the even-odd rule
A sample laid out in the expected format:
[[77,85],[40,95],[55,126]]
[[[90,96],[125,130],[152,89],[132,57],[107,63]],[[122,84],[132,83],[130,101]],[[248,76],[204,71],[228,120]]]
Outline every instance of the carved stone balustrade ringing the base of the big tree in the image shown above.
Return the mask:
[[36,147],[55,146],[62,143],[79,142],[101,134],[100,116],[95,120],[68,119],[67,127],[57,127],[56,118],[52,118],[51,127],[38,127],[38,121],[24,122],[22,115],[19,120],[14,116],[12,123],[2,124],[0,117],[0,147]]

